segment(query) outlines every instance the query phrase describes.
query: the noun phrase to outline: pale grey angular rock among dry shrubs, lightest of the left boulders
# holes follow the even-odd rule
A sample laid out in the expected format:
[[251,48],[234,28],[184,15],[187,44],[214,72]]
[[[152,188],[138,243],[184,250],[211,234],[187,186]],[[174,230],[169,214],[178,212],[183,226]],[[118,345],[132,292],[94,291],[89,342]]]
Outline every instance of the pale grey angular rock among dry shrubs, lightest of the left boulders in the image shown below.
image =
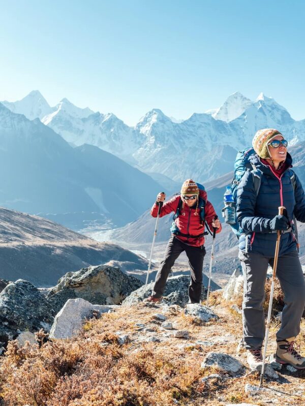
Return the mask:
[[55,316],[50,331],[50,339],[68,339],[77,334],[86,318],[92,317],[94,311],[106,313],[110,306],[92,304],[82,298],[69,299]]

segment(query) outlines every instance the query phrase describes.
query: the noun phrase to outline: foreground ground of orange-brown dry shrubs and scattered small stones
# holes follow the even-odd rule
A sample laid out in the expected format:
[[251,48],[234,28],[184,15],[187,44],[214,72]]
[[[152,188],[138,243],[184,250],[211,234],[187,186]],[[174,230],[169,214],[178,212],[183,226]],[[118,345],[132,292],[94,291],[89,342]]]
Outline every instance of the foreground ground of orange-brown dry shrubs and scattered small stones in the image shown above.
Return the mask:
[[[43,333],[37,335],[40,346],[9,344],[0,359],[2,406],[304,404],[303,371],[273,363],[259,388],[259,373],[249,370],[238,345],[238,308],[221,294],[212,294],[211,304],[207,309],[141,302],[105,312],[83,300],[68,301],[56,328],[65,325],[70,338],[55,339],[55,328],[46,343]],[[95,318],[77,332],[70,328],[73,311],[85,307]],[[272,321],[268,355],[275,350],[277,323]]]

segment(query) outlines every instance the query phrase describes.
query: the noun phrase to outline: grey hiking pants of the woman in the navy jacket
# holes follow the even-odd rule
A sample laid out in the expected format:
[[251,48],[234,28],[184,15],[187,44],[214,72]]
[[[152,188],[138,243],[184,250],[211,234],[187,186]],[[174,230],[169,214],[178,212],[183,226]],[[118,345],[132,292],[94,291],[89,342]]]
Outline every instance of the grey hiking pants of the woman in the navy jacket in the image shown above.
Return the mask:
[[[263,302],[268,264],[274,258],[239,251],[243,273],[242,321],[247,349],[261,348],[265,336]],[[278,259],[277,277],[284,293],[285,306],[277,340],[295,337],[300,332],[300,321],[305,306],[305,280],[297,251]]]

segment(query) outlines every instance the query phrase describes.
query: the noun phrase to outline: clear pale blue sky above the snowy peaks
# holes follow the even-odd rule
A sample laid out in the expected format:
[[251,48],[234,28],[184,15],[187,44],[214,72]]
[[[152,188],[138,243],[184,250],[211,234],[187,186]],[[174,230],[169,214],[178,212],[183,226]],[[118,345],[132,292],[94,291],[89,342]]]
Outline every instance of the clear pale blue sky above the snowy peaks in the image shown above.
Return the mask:
[[187,118],[263,91],[305,118],[305,2],[0,0],[0,100]]

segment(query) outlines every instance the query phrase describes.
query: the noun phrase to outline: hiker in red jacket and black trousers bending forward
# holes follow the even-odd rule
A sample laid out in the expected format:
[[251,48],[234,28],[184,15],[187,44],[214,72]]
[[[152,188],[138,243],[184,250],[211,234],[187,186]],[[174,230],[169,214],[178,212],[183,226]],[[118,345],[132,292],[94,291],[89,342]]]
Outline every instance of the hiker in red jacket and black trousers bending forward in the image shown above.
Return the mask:
[[[159,193],[157,201],[151,208],[151,216],[157,217],[159,202],[165,200],[165,193]],[[185,251],[191,267],[191,283],[189,286],[190,303],[200,303],[202,286],[202,266],[206,253],[204,248],[204,220],[210,229],[221,231],[219,219],[216,219],[214,207],[207,200],[205,191],[199,189],[197,183],[187,179],[181,187],[181,195],[174,196],[161,208],[160,217],[171,212],[175,220],[171,226],[171,238],[166,247],[165,255],[160,263],[153,292],[146,301],[160,303],[170,270],[181,254]]]

